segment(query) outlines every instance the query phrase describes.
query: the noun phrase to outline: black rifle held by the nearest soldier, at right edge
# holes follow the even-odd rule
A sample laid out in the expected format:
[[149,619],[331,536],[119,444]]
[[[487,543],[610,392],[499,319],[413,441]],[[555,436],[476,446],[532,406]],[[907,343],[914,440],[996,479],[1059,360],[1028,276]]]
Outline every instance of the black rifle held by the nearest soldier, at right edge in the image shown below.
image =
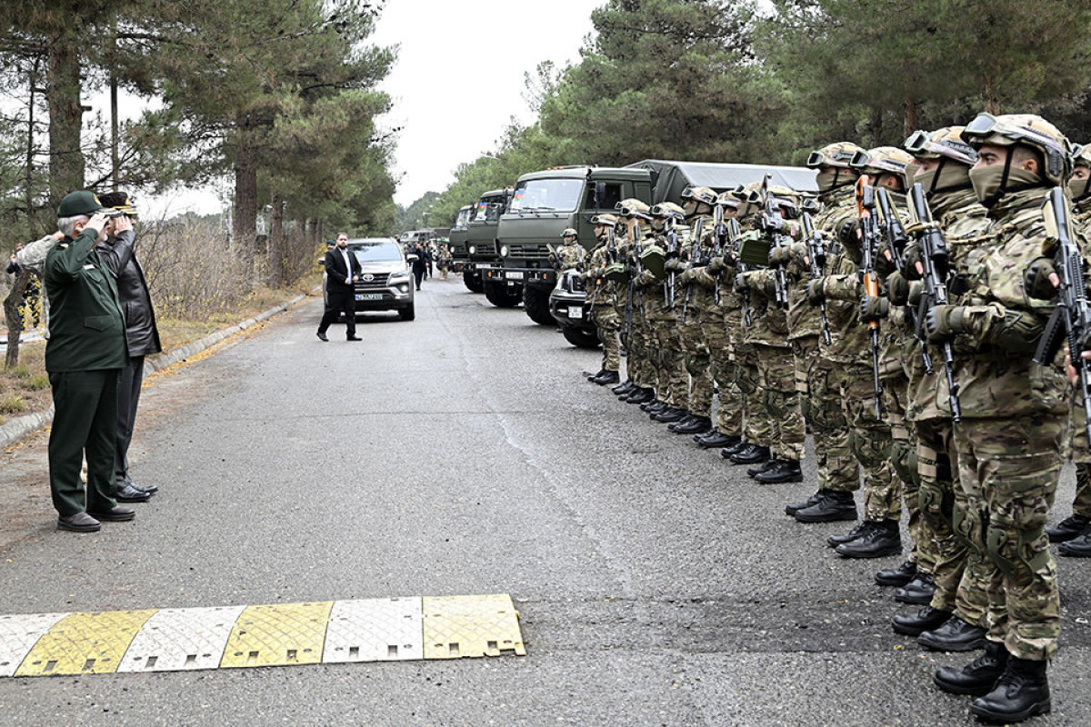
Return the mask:
[[1079,395],[1083,399],[1083,421],[1091,439],[1091,362],[1080,354],[1091,348],[1091,303],[1083,280],[1083,259],[1072,242],[1071,222],[1065,189],[1055,186],[1045,202],[1045,230],[1051,242],[1056,244],[1057,307],[1050,316],[1042,341],[1034,353],[1034,362],[1048,366],[1060,349],[1065,336],[1068,338],[1068,358],[1072,368],[1079,374]]

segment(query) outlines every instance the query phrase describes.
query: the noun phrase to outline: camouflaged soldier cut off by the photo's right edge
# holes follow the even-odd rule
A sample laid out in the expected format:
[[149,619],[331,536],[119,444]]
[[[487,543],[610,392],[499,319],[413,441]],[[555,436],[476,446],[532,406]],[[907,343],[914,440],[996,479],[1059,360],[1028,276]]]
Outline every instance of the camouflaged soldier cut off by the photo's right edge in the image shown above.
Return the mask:
[[[1068,182],[1072,195],[1072,227],[1091,235],[1091,145],[1076,150],[1076,168]],[[1091,450],[1083,426],[1083,407],[1072,398],[1072,462],[1076,463],[1076,499],[1072,514],[1053,528],[1046,528],[1051,543],[1060,543],[1057,553],[1076,558],[1091,558]]]

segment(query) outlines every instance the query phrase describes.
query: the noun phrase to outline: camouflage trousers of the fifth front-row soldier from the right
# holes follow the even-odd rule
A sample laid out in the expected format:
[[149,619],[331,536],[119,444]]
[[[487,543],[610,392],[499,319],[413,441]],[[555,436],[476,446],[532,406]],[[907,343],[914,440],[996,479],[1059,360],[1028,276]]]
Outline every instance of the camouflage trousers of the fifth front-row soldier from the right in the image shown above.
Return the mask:
[[800,409],[811,424],[818,465],[818,488],[851,493],[860,489],[860,465],[849,444],[849,425],[840,402],[841,364],[823,359],[818,337],[792,340],[795,389]]

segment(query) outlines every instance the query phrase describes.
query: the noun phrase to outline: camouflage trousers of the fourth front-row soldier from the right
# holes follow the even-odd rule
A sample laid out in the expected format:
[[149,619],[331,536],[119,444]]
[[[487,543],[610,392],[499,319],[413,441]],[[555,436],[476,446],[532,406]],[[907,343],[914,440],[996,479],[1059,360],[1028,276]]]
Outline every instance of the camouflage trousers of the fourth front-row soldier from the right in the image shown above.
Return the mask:
[[864,520],[900,520],[901,481],[890,460],[890,425],[875,415],[872,367],[848,364],[842,371],[840,396],[849,422],[849,445],[864,472],[867,494]]

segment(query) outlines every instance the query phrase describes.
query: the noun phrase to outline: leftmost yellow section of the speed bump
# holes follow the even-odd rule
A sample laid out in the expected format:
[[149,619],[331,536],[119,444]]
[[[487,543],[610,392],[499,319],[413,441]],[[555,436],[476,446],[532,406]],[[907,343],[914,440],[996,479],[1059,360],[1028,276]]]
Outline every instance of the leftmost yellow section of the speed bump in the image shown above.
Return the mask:
[[16,677],[117,671],[129,643],[157,609],[71,614],[23,659]]

